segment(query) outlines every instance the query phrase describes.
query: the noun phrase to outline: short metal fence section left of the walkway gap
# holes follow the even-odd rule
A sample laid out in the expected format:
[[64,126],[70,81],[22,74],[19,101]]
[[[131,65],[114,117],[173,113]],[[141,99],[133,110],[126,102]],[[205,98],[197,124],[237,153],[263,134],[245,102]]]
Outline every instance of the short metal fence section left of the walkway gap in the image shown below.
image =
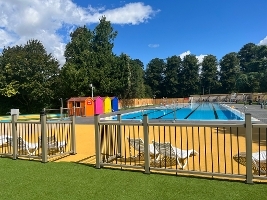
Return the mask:
[[48,162],[53,157],[76,154],[75,117],[71,120],[17,121],[0,123],[0,155]]

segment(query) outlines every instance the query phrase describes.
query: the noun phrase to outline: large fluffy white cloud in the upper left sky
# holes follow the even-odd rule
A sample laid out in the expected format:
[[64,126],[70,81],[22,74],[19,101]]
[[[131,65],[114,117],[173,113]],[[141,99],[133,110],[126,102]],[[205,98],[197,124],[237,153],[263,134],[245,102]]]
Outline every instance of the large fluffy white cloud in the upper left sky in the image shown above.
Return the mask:
[[0,50],[37,39],[61,64],[65,62],[64,37],[68,38],[73,27],[98,23],[101,16],[113,24],[137,25],[158,12],[140,2],[105,9],[80,7],[72,0],[0,0],[0,7]]

